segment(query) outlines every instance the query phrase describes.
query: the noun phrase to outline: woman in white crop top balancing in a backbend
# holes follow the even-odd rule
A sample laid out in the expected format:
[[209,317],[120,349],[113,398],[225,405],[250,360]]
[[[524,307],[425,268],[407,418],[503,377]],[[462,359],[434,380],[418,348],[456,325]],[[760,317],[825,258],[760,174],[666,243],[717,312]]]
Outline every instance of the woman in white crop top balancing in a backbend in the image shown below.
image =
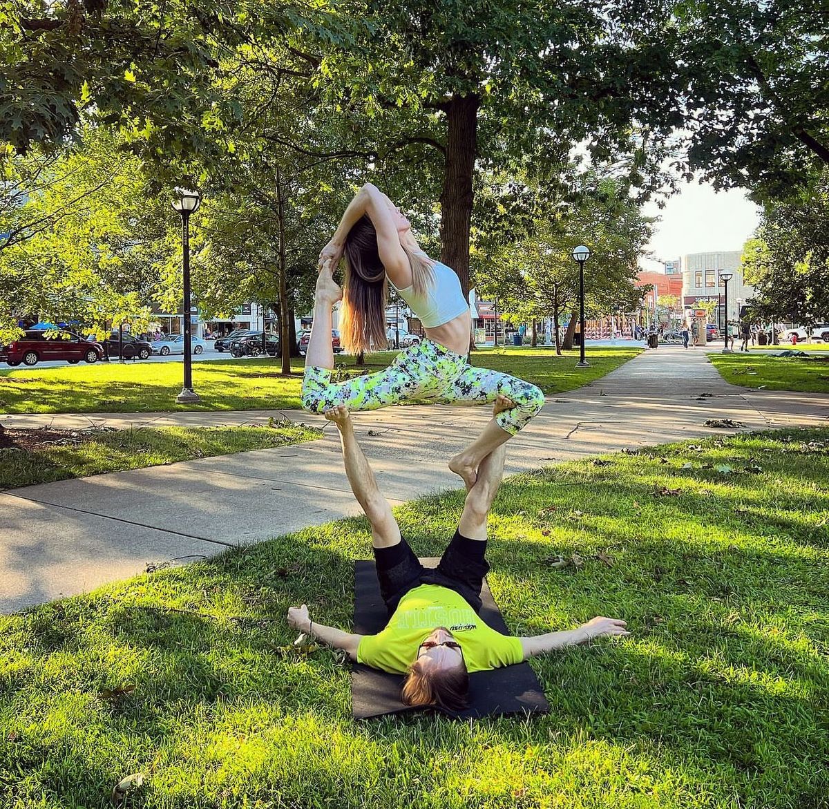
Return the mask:
[[[402,351],[384,371],[337,384],[331,380],[331,311],[343,293],[332,274],[343,254],[342,346],[352,352],[385,349],[388,283],[419,317],[426,339]],[[401,400],[482,404],[507,395],[511,407],[449,461],[449,468],[463,477],[467,487],[472,486],[478,464],[538,413],[544,394],[514,376],[468,364],[469,304],[457,274],[429,259],[414,240],[409,221],[376,187],[363,186],[351,200],[337,232],[322,249],[320,265],[303,408],[324,413],[344,404],[354,410],[373,410]]]

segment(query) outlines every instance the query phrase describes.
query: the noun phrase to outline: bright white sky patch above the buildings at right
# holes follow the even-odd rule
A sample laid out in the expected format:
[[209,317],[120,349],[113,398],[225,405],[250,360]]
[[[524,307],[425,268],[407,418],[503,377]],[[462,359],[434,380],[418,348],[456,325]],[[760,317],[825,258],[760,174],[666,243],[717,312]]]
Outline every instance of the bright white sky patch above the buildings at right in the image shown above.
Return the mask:
[[[716,192],[707,183],[682,183],[662,210],[650,204],[644,208],[647,216],[661,217],[654,225],[650,249],[664,261],[689,253],[743,249],[757,227],[759,211],[744,191]],[[639,259],[639,266],[662,269],[650,259]]]

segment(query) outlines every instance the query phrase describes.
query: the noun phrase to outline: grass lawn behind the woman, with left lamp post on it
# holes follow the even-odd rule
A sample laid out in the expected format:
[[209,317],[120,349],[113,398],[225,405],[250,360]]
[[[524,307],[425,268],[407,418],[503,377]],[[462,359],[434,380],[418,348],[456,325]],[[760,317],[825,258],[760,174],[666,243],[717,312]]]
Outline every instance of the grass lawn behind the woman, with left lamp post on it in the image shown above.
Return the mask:
[[[545,394],[584,385],[636,356],[641,349],[589,351],[591,368],[574,367],[578,351],[555,356],[544,349],[498,348],[473,353],[473,364],[536,382]],[[343,373],[380,371],[395,353],[366,357],[356,368],[353,356],[338,356]],[[193,363],[193,387],[199,404],[177,404],[182,364],[151,362],[96,363],[92,366],[0,371],[0,413],[151,413],[172,410],[298,409],[303,363],[293,375],[279,374],[279,360],[199,361]]]

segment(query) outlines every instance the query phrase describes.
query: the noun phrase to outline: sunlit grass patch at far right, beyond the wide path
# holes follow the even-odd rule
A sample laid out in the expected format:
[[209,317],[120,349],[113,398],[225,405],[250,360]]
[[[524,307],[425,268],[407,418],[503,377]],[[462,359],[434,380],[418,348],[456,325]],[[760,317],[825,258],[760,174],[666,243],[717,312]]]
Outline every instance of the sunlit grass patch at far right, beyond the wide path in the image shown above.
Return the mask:
[[[784,346],[781,350],[787,348]],[[723,378],[733,385],[829,393],[829,356],[804,358],[757,352],[708,356]]]

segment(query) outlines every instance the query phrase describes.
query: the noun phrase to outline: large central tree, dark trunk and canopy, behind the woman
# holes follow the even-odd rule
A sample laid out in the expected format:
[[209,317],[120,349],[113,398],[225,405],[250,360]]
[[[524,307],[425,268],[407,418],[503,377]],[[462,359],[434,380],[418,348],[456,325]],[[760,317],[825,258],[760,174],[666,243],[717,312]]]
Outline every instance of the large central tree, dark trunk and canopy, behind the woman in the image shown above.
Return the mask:
[[442,259],[464,286],[476,160],[507,169],[532,155],[555,173],[588,139],[601,160],[631,154],[644,183],[650,140],[681,124],[675,28],[659,2],[347,0],[338,11],[354,43],[312,38],[318,81],[369,115],[410,111],[410,137],[443,164]]

